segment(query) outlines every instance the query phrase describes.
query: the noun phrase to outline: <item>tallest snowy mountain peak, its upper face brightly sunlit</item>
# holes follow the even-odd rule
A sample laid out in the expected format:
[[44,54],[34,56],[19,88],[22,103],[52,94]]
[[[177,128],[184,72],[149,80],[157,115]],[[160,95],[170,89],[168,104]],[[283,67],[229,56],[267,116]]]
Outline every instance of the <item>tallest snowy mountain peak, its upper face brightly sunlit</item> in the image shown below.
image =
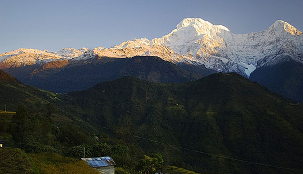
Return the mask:
[[153,39],[152,45],[163,45],[178,54],[201,57],[202,52],[210,54],[213,48],[224,44],[218,35],[226,32],[229,33],[228,28],[222,25],[213,25],[201,18],[185,18],[168,35]]

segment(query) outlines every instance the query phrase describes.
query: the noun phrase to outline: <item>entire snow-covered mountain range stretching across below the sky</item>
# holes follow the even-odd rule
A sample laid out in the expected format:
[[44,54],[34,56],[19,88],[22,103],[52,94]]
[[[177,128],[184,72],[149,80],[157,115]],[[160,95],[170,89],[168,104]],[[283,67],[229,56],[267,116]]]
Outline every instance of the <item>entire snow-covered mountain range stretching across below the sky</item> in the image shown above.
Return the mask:
[[[265,31],[233,34],[225,26],[213,25],[201,18],[185,18],[161,38],[128,40],[111,48],[64,48],[58,52],[18,50],[0,54],[0,68],[5,67],[4,64],[11,66],[9,63],[25,66],[62,59],[83,60],[95,55],[118,58],[141,55],[249,77],[256,68],[272,66],[285,59],[303,63],[303,33],[282,20]],[[16,63],[18,59],[21,63]]]

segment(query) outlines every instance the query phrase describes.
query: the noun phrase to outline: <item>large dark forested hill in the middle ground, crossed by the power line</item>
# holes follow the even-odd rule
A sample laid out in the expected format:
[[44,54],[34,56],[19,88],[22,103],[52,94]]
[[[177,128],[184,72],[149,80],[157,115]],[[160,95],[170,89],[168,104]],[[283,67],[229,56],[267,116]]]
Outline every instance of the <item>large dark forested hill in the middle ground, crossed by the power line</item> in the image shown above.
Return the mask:
[[133,140],[201,173],[292,173],[216,155],[302,170],[303,106],[237,74],[166,85],[125,77],[69,95],[91,123],[212,154]]

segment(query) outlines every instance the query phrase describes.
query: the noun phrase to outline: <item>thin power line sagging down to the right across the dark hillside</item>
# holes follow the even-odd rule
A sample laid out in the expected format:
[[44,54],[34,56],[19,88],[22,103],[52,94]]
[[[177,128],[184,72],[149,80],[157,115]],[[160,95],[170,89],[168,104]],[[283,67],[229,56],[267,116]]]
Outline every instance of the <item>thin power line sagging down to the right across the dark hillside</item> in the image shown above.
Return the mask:
[[[103,127],[103,126],[99,126],[99,127],[103,128],[103,129],[111,130],[111,131],[114,131],[114,132],[127,134],[125,132],[121,132],[121,131],[118,131],[118,130],[112,130],[108,127]],[[215,156],[215,157],[224,158],[224,159],[228,159],[228,160],[234,160],[234,161],[238,161],[238,162],[249,163],[249,164],[260,165],[260,166],[266,166],[266,167],[271,167],[271,168],[303,172],[303,170],[298,170],[298,169],[285,168],[285,167],[280,167],[280,166],[268,165],[268,164],[264,164],[264,163],[256,163],[256,162],[251,162],[251,161],[247,161],[247,160],[236,159],[236,158],[227,157],[227,156],[223,156],[223,155],[210,154],[210,153],[207,153],[207,152],[197,151],[197,150],[194,150],[194,149],[188,149],[188,148],[175,146],[175,145],[168,144],[168,143],[163,143],[163,142],[160,142],[160,141],[151,140],[151,139],[140,137],[140,136],[133,135],[133,134],[131,134],[131,136],[136,137],[136,138],[140,138],[140,139],[143,139],[143,140],[148,140],[148,141],[151,141],[151,142],[154,142],[154,143],[168,145],[168,146],[172,146],[172,147],[176,147],[176,148],[179,148],[179,149],[184,149],[184,150],[187,150],[187,151],[192,151],[192,152],[196,152],[196,153],[200,153],[200,154],[204,154],[204,155],[210,155],[210,156]]]

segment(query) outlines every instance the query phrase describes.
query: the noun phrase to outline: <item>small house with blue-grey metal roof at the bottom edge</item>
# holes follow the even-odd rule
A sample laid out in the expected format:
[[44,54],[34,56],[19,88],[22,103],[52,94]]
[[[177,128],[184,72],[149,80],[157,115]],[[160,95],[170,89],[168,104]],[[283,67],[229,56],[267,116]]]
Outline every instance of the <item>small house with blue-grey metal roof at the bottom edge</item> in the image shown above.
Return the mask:
[[88,165],[96,169],[100,174],[114,174],[115,162],[110,157],[82,158]]

